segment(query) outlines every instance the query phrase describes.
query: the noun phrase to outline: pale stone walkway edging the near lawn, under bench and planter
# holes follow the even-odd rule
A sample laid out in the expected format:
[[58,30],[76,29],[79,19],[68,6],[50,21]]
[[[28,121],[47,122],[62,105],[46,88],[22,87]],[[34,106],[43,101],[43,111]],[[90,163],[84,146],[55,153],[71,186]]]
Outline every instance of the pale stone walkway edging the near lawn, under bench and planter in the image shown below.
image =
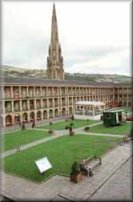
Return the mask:
[[[131,158],[131,156],[131,142],[125,143],[122,146],[117,146],[115,149],[109,151],[102,157],[102,165],[99,165],[95,169],[95,174],[93,177],[84,177],[84,179],[78,184],[70,182],[68,177],[62,176],[54,176],[48,181],[39,184],[16,176],[11,176],[3,172],[1,174],[1,191],[3,195],[15,201],[90,200],[95,196],[94,193],[98,193],[99,189],[104,187],[105,183],[107,183],[111,177],[117,173],[122,165],[124,165],[125,162]],[[128,171],[129,169],[127,172]],[[119,191],[119,188],[117,191]],[[119,194],[118,197],[120,197]],[[122,196],[119,199],[122,200],[127,198],[129,198],[129,196]]]

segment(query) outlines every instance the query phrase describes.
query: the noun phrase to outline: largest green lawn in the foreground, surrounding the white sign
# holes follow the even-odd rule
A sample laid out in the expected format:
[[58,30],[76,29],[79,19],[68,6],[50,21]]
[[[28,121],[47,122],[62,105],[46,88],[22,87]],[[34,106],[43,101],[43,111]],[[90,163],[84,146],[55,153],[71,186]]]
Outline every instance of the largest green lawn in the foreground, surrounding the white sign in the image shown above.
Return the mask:
[[[62,136],[6,157],[5,171],[33,181],[44,181],[55,174],[70,175],[71,165],[91,155],[101,156],[121,138],[88,135]],[[35,161],[48,157],[52,168],[41,175]]]

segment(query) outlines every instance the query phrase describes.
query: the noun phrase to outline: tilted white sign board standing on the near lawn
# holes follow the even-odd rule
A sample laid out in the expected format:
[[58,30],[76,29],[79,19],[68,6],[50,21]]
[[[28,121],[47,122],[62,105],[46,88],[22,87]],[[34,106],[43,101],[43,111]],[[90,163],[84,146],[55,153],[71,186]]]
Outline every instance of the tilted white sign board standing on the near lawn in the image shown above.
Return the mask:
[[35,161],[35,164],[37,165],[40,173],[43,173],[44,171],[52,168],[52,165],[50,164],[50,162],[47,159],[47,157],[38,159],[37,161]]

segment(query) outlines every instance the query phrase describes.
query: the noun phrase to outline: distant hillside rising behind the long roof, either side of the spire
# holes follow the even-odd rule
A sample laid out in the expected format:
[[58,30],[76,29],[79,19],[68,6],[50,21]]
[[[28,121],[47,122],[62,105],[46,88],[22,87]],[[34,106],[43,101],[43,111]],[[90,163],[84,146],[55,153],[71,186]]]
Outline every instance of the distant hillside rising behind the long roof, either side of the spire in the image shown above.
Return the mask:
[[[1,68],[1,75],[6,77],[34,77],[45,78],[46,70],[43,69],[25,69],[18,67],[10,67],[3,65]],[[79,80],[79,81],[91,81],[96,83],[109,82],[109,83],[129,83],[131,82],[130,76],[124,75],[111,75],[111,74],[81,74],[81,73],[65,73],[66,80]]]

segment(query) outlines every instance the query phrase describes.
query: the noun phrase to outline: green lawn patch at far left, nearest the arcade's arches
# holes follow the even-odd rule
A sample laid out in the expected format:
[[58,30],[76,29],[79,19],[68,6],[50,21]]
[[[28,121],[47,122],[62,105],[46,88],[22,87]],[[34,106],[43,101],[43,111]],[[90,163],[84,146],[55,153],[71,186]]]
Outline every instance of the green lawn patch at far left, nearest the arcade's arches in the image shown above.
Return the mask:
[[9,149],[13,149],[17,146],[24,145],[48,136],[50,136],[48,132],[28,129],[24,131],[21,130],[10,134],[5,134],[3,138],[3,141],[5,143],[4,150],[6,151]]

